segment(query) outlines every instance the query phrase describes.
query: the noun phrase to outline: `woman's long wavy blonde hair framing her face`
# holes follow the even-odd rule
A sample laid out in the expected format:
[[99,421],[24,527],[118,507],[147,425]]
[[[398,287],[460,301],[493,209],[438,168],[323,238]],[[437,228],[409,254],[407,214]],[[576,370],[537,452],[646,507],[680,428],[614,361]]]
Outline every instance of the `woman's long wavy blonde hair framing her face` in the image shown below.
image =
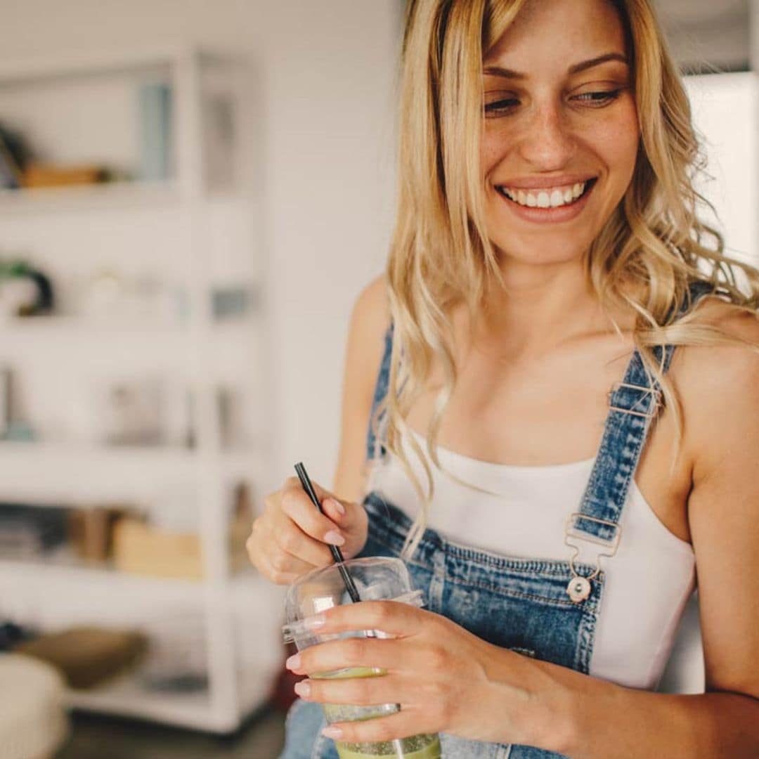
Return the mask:
[[[404,549],[410,556],[427,524],[433,477],[410,434],[408,412],[430,378],[444,383],[427,429],[427,455],[440,467],[437,437],[456,382],[451,315],[471,317],[491,282],[502,282],[487,236],[480,178],[483,57],[526,0],[410,0],[406,17],[399,112],[398,213],[386,275],[394,339],[383,417],[383,442],[417,490],[421,509]],[[650,0],[610,0],[625,27],[635,71],[641,148],[625,196],[587,254],[587,277],[604,307],[636,314],[635,347],[660,384],[664,402],[682,417],[655,345],[741,342],[694,313],[678,317],[691,282],[708,282],[736,310],[756,313],[759,272],[723,254],[720,233],[698,219],[694,189],[704,159],[685,89]],[[632,295],[630,278],[644,285]],[[470,320],[472,323],[472,320]],[[402,448],[408,439],[424,466],[427,492]]]

